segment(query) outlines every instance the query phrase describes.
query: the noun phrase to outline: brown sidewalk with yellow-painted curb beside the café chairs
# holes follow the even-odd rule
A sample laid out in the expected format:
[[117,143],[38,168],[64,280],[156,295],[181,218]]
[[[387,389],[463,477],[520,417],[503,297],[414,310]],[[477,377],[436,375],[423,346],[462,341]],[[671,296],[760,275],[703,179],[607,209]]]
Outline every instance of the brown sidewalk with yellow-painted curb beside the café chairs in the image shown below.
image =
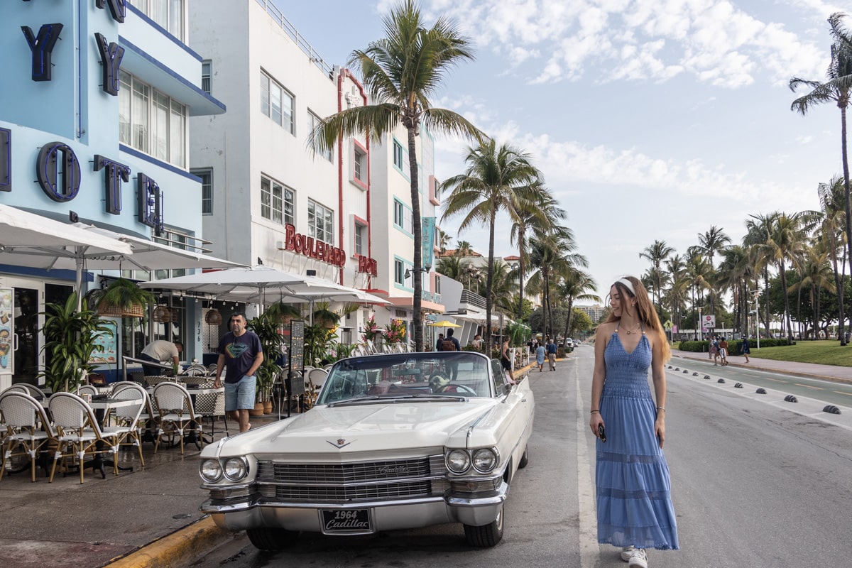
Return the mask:
[[[277,419],[277,414],[252,416],[251,422],[261,426]],[[236,422],[228,421],[228,427],[231,433],[238,431]],[[216,439],[224,433],[220,428],[222,422],[216,422]],[[145,468],[139,468],[135,452],[122,450],[121,465],[132,464],[134,471],[115,476],[107,468],[107,479],[101,479],[89,469],[83,485],[77,473],[56,473],[52,484],[41,470],[35,483],[29,470],[4,474],[3,567],[103,566],[113,559],[119,559],[117,566],[180,566],[197,556],[199,548],[231,537],[199,512],[207,492],[199,487],[195,445],[187,446],[183,456],[180,446],[161,447],[154,455],[153,445],[146,442],[142,453]]]

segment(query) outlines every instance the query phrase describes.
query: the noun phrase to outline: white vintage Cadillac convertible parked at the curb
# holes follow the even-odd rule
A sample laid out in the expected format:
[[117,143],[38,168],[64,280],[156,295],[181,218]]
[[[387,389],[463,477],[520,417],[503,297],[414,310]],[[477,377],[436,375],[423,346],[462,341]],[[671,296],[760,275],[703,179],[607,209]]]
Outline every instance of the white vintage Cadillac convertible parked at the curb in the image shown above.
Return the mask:
[[204,447],[201,511],[267,550],[299,531],[455,522],[470,545],[494,546],[533,414],[529,381],[508,384],[481,353],[343,359],[313,409]]

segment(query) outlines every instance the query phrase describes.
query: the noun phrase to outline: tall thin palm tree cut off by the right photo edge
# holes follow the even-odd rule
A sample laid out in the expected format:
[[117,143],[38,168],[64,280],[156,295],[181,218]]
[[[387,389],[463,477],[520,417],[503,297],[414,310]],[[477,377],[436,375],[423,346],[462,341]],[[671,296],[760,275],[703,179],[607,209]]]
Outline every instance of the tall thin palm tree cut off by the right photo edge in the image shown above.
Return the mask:
[[[790,89],[793,92],[796,92],[796,89],[803,85],[812,89],[808,95],[793,100],[790,110],[805,116],[813,106],[824,102],[832,102],[840,109],[840,157],[843,160],[846,256],[852,259],[852,204],[849,203],[849,160],[846,156],[846,109],[849,106],[849,91],[852,89],[852,37],[850,37],[846,26],[843,26],[843,18],[845,17],[846,14],[840,12],[835,12],[828,17],[828,25],[831,27],[830,33],[834,43],[832,44],[832,60],[826,71],[826,82],[807,81],[799,77],[790,79]],[[843,287],[838,290],[843,290]],[[843,318],[844,314],[841,310],[838,330],[840,331],[840,344],[846,345],[843,335]]]

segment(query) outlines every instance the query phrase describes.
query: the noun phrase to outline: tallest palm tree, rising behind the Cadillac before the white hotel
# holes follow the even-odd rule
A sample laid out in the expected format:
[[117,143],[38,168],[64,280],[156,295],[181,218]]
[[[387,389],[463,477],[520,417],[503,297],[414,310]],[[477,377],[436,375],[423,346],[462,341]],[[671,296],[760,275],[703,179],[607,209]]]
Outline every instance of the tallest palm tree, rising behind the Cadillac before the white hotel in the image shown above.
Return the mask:
[[421,125],[430,132],[462,135],[481,140],[482,133],[456,112],[434,108],[435,95],[446,73],[462,60],[472,60],[469,40],[444,17],[435,25],[423,25],[414,0],[402,0],[382,19],[385,37],[367,49],[355,50],[349,66],[359,66],[370,94],[370,105],[354,106],[320,121],[308,141],[314,152],[326,152],[343,144],[343,136],[363,134],[381,138],[400,124],[408,133],[408,164],[411,180],[414,247],[414,347],[423,351],[423,226],[417,181],[417,135]]

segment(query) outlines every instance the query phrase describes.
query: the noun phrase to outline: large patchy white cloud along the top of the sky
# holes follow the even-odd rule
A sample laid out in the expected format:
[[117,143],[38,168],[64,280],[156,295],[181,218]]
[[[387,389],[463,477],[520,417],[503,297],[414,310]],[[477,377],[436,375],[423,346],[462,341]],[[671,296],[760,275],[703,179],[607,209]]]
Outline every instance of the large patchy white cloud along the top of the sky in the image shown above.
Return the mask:
[[[384,1],[384,0],[383,0]],[[790,0],[808,11],[819,0]],[[549,54],[532,83],[576,80],[666,81],[684,72],[736,89],[763,77],[821,77],[825,49],[758,20],[732,0],[433,0],[435,13],[467,26],[483,48],[529,66]],[[827,16],[828,12],[826,12]]]

